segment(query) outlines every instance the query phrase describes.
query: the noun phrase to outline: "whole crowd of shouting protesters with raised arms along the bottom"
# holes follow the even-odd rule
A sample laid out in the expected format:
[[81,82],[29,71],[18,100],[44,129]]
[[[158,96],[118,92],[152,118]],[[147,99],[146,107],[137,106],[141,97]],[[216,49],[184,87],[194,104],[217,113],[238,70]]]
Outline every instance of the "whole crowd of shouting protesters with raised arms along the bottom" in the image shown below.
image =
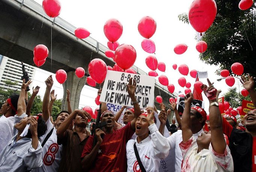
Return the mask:
[[[27,86],[20,95],[12,95],[2,105],[0,114],[0,171],[1,172],[157,172],[160,161],[175,154],[176,172],[255,172],[256,171],[256,109],[244,116],[238,126],[236,117],[222,116],[218,108],[220,90],[208,86],[202,90],[209,101],[209,119],[199,106],[191,107],[193,94],[185,95],[182,117],[171,102],[176,116],[169,122],[171,110],[160,104],[161,110],[147,107],[141,110],[136,99],[136,81],[127,84],[133,108],[122,107],[117,114],[101,102],[100,122],[86,129],[91,116],[86,111],[72,110],[67,90],[68,111],[51,116],[54,96],[53,79],[45,80],[46,90],[42,112],[30,114],[39,86],[27,98]],[[256,106],[253,78],[241,77]],[[98,91],[101,95],[101,90]],[[123,123],[118,120],[125,110]],[[160,122],[156,125],[155,115]],[[97,124],[97,123],[96,123]],[[164,136],[164,129],[170,135]],[[168,164],[169,162],[166,162]]]

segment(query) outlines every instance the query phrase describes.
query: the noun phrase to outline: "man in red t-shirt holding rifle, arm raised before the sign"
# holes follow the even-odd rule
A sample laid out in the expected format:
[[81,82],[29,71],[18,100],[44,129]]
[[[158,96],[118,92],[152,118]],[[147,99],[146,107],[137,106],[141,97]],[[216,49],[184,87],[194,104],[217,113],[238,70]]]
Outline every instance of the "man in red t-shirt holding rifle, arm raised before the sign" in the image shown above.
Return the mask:
[[[133,81],[133,83],[132,83]],[[93,136],[90,136],[84,146],[81,155],[82,167],[85,171],[92,172],[125,172],[127,170],[126,163],[126,143],[134,134],[135,122],[140,115],[140,106],[135,97],[136,82],[129,80],[127,92],[130,95],[134,105],[134,119],[126,126],[119,130],[114,130],[114,114],[111,111],[104,111],[101,114],[101,122],[106,122],[107,125],[101,129],[96,129],[95,134],[97,143],[93,145]],[[104,138],[101,138],[104,135]]]

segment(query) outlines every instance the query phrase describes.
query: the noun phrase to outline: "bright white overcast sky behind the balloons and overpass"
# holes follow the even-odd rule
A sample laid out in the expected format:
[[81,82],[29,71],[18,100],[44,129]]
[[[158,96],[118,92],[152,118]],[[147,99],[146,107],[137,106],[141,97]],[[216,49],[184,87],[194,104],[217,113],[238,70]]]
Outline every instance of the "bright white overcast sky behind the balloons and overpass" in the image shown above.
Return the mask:
[[[42,5],[42,0],[35,1]],[[221,76],[215,74],[218,66],[207,65],[200,61],[199,52],[196,50],[196,31],[190,24],[184,24],[178,19],[179,14],[188,12],[192,2],[192,0],[61,0],[62,11],[59,17],[77,28],[86,28],[91,33],[90,37],[105,46],[107,46],[108,40],[103,32],[104,24],[110,18],[118,19],[123,25],[123,33],[118,42],[120,44],[131,44],[136,49],[137,59],[134,65],[148,73],[150,69],[146,66],[145,59],[151,54],[142,49],[141,42],[144,38],[139,34],[137,26],[142,17],[151,16],[157,23],[157,30],[154,36],[151,37],[151,40],[153,40],[156,45],[154,56],[158,59],[158,62],[164,62],[166,64],[166,71],[163,73],[157,70],[158,75],[166,75],[169,79],[169,83],[175,85],[175,92],[177,93],[179,91],[184,93],[185,88],[178,85],[178,79],[179,77],[185,77],[187,82],[191,83],[192,90],[195,79],[189,74],[188,76],[182,76],[178,68],[177,70],[173,70],[172,68],[173,64],[177,64],[178,67],[181,64],[186,64],[189,70],[208,71],[208,78],[211,82],[214,82],[215,88],[222,90],[222,95],[227,92],[229,86],[226,85],[224,79],[220,82],[217,81],[217,79],[221,78]],[[185,43],[188,46],[187,51],[182,55],[176,55],[173,51],[173,48],[179,43]],[[44,71],[44,73],[47,78],[47,72]],[[41,77],[41,74],[38,74],[38,72],[35,78],[37,77]],[[158,77],[156,79],[158,79]],[[241,84],[238,79],[235,80],[236,83],[233,87],[237,87],[238,90],[241,90]],[[200,79],[200,81],[207,84],[206,79]],[[37,82],[34,84],[36,83]],[[61,98],[63,90],[59,89],[62,89],[62,86],[55,80],[54,87],[58,89],[58,98]],[[93,90],[92,93],[88,94],[87,89]],[[96,104],[94,103],[96,94],[96,89],[85,86],[82,91],[80,106],[91,105],[93,109],[96,108]],[[203,98],[207,100],[204,95]],[[208,107],[209,102],[205,101],[205,105]],[[208,108],[205,110],[208,111]]]

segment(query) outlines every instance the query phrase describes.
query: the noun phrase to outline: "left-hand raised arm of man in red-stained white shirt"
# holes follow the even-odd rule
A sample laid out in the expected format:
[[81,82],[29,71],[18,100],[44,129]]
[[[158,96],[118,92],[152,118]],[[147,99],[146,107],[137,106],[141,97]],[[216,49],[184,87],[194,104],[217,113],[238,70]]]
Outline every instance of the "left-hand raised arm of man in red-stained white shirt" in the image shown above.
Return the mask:
[[190,110],[191,103],[193,101],[193,94],[187,93],[185,96],[185,108],[182,114],[181,125],[182,125],[182,141],[187,142],[188,139],[193,136],[191,131],[191,120],[190,120]]

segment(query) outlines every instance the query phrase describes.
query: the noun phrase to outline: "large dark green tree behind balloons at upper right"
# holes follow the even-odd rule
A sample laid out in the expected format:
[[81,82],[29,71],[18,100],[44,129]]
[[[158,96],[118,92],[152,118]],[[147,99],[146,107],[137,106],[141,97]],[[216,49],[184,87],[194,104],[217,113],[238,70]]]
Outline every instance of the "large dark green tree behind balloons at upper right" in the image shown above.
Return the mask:
[[[200,54],[200,59],[206,64],[220,65],[217,74],[222,69],[231,73],[231,65],[239,62],[244,65],[244,73],[256,76],[256,6],[253,3],[250,9],[240,10],[239,1],[215,0],[217,16],[203,36],[208,48]],[[188,23],[187,14],[178,18]]]

